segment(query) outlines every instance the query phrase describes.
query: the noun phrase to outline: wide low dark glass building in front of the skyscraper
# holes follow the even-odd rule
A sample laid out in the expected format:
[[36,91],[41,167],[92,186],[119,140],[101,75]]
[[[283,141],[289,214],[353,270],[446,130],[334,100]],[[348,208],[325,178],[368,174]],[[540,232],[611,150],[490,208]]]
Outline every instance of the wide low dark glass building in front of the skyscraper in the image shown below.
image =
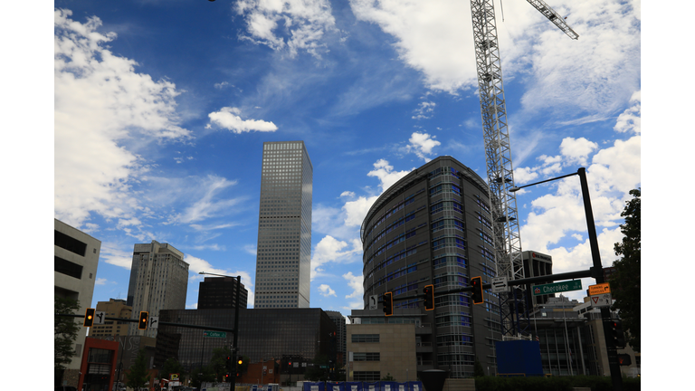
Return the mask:
[[[233,329],[234,310],[161,310],[159,321]],[[336,325],[321,309],[239,310],[237,344],[239,354],[251,362],[280,359],[283,355],[313,359],[335,350],[330,343],[336,339],[329,338],[334,332]],[[155,365],[178,358],[186,370],[191,370],[208,365],[215,348],[231,348],[232,332],[227,332],[225,338],[208,335],[205,337],[205,329],[160,325]]]

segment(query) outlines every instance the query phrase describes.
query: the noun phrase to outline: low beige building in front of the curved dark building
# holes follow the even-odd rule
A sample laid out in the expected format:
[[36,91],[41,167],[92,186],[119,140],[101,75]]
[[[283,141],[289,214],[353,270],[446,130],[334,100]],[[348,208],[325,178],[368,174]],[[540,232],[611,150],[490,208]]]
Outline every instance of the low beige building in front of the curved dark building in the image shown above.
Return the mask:
[[397,382],[417,379],[415,325],[349,324],[348,381],[376,382],[391,375]]

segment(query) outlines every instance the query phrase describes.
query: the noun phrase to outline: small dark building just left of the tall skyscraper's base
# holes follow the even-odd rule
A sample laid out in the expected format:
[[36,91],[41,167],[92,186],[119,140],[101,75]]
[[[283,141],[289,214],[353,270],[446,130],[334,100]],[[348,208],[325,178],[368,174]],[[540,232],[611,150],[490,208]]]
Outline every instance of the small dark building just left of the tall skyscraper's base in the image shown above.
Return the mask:
[[[198,310],[236,308],[236,279],[233,277],[205,277],[198,289]],[[245,309],[249,291],[239,287],[239,308]]]

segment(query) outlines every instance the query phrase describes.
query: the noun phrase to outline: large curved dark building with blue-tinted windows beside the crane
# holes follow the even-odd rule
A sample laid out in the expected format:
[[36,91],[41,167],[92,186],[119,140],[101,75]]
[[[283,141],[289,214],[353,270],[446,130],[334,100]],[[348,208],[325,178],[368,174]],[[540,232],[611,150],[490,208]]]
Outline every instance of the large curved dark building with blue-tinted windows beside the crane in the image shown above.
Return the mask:
[[[491,219],[485,181],[453,157],[437,157],[401,178],[379,196],[361,227],[365,309],[370,296],[381,301],[391,291],[394,316],[353,310],[352,317],[362,324],[409,322],[427,329],[416,335],[418,371],[447,369],[452,378],[472,377],[478,358],[494,375],[499,297],[485,291],[484,304],[473,305],[469,293],[437,295],[468,286],[475,276],[491,282]],[[421,300],[398,300],[429,284],[434,310],[425,311]]]

